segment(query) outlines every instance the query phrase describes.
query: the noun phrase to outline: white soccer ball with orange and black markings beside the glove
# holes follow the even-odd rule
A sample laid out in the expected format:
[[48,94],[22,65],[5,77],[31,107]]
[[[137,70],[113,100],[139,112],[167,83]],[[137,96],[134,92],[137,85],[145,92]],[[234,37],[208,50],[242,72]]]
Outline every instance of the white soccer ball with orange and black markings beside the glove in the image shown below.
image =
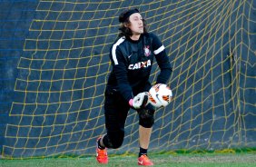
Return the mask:
[[172,100],[172,90],[166,84],[158,83],[149,90],[148,102],[154,107],[165,107]]

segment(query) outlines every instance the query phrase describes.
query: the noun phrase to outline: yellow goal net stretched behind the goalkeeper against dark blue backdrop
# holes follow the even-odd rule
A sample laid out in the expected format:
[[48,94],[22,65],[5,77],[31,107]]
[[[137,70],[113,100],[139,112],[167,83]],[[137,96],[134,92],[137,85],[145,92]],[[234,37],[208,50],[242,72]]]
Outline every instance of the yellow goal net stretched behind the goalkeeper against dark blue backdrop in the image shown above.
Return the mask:
[[[109,49],[127,6],[160,36],[173,67],[172,103],[155,113],[150,152],[256,147],[255,1],[40,0],[14,67],[3,157],[94,154],[105,133]],[[157,74],[153,64],[152,82]],[[123,146],[109,153],[138,147],[131,110]]]

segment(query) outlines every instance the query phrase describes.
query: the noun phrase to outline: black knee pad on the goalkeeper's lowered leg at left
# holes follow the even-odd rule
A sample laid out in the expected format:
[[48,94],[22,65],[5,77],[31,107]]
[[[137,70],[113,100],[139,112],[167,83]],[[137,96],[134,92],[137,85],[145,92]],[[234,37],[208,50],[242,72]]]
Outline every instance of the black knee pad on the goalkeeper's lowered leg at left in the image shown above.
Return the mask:
[[103,144],[107,148],[117,149],[123,144],[124,131],[107,132],[103,136]]

